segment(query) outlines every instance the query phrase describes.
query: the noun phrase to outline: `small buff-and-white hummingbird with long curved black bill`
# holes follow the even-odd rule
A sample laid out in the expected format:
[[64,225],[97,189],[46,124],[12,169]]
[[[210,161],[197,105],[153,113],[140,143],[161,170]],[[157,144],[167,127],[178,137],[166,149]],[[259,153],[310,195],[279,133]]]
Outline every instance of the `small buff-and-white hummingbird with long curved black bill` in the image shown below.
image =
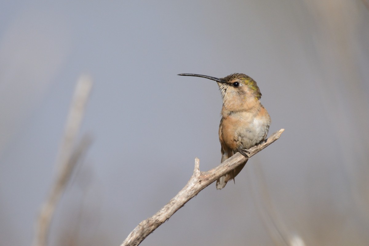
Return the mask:
[[[260,102],[261,92],[255,80],[243,73],[233,73],[224,78],[193,73],[179,75],[203,77],[217,82],[223,99],[219,125],[221,162],[237,152],[248,158],[247,149],[265,140],[271,122],[268,111]],[[220,177],[216,183],[217,190],[234,180],[246,162]]]

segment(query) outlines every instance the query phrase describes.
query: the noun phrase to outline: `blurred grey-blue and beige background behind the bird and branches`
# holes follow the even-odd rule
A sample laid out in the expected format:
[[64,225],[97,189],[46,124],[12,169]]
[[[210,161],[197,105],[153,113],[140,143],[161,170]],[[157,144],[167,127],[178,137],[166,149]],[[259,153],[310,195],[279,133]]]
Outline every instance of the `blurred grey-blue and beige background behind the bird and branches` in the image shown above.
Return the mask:
[[369,2],[6,1],[0,10],[0,239],[31,245],[81,74],[93,143],[49,245],[120,245],[220,163],[217,84],[256,80],[281,138],[141,245],[369,245]]

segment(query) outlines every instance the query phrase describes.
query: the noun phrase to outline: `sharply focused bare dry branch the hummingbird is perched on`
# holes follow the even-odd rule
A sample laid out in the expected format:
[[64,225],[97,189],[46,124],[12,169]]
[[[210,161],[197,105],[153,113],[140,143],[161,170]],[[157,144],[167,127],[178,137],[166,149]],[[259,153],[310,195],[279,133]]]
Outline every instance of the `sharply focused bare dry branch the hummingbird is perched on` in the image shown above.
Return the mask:
[[[254,146],[248,151],[250,152],[249,157],[255,155],[268,145],[276,141],[284,129],[273,133],[265,142],[260,145]],[[187,182],[186,186],[183,187],[179,193],[172,198],[164,207],[162,207],[156,214],[148,219],[142,221],[138,226],[128,235],[121,246],[137,246],[139,245],[150,233],[152,233],[161,224],[167,221],[178,209],[182,208],[186,202],[197,195],[205,187],[213,183],[215,180],[224,176],[229,171],[235,169],[246,161],[246,157],[240,153],[236,153],[219,166],[209,170],[200,171],[200,160],[195,159],[195,168],[193,175]]]

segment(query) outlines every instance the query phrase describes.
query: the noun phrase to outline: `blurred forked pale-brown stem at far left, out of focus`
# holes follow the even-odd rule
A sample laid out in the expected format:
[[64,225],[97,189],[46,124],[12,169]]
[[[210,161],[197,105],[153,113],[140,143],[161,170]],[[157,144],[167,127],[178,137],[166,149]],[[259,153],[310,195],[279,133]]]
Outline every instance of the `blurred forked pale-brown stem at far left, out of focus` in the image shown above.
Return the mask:
[[61,147],[56,159],[58,173],[56,174],[55,183],[52,185],[50,194],[44,205],[42,205],[38,216],[34,246],[46,245],[56,205],[65,190],[66,184],[70,180],[73,170],[91,143],[91,138],[85,135],[73,149],[91,88],[92,79],[89,76],[81,76],[76,85]]

